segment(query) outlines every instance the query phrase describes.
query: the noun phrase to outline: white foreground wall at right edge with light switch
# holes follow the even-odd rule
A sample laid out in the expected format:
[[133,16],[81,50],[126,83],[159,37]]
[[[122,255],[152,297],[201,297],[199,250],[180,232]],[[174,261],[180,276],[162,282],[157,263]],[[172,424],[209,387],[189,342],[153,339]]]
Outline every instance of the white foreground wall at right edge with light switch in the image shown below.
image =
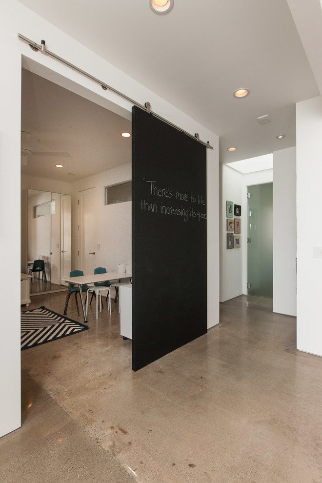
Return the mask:
[[296,106],[297,166],[297,347],[322,356],[322,97]]

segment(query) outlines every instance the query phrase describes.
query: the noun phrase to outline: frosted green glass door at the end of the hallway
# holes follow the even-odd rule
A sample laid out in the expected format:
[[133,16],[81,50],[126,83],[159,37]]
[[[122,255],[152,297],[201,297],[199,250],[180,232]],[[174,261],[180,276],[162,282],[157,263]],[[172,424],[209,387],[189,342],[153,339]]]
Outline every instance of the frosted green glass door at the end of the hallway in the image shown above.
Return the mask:
[[273,298],[273,183],[248,186],[247,293]]

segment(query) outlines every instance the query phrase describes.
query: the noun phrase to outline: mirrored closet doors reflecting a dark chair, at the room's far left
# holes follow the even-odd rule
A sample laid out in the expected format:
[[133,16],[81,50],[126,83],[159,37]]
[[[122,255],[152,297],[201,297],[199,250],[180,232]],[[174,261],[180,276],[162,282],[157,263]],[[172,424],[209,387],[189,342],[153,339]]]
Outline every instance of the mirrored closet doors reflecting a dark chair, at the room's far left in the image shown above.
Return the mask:
[[33,272],[30,293],[66,289],[71,266],[71,195],[28,189],[27,273],[35,260],[44,272]]

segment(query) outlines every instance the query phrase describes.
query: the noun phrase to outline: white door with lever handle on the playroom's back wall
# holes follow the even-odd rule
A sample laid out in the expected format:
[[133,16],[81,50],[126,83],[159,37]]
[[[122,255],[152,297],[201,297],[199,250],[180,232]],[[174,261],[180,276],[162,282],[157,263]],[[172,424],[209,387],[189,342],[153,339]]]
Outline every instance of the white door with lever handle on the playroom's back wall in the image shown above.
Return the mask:
[[93,274],[94,268],[97,266],[97,227],[94,197],[94,188],[79,192],[80,269],[84,272],[84,275]]

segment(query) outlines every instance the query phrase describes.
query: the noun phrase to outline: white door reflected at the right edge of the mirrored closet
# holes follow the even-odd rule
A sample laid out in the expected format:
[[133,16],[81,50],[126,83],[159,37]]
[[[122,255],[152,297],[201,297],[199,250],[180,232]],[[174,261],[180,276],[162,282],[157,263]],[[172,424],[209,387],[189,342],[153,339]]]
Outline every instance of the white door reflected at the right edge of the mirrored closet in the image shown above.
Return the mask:
[[60,283],[65,283],[71,268],[71,235],[72,235],[71,196],[60,197]]

